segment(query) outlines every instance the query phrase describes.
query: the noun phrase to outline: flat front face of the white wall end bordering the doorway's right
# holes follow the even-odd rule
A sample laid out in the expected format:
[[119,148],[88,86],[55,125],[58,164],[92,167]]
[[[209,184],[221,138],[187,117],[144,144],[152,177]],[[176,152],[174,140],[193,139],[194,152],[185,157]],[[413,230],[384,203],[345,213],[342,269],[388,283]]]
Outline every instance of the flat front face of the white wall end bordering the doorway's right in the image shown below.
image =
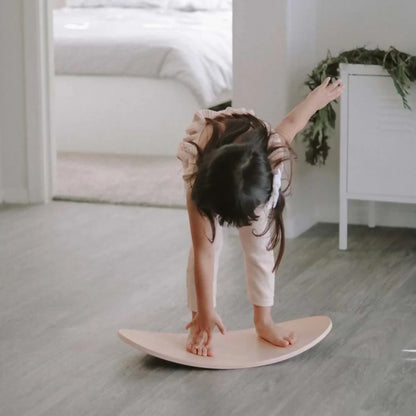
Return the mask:
[[233,105],[269,122],[287,111],[286,13],[286,1],[233,2]]

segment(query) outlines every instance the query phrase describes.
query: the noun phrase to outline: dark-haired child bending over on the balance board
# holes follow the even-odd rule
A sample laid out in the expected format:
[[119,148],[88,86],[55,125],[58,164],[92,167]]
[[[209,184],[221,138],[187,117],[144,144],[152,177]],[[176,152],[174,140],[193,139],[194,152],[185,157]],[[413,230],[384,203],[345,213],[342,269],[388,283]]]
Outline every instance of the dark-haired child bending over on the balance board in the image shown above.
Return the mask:
[[[293,159],[290,143],[310,117],[343,91],[341,80],[330,78],[311,91],[274,129],[252,111],[227,108],[200,110],[178,148],[183,164],[186,205],[192,236],[188,258],[187,294],[192,321],[188,323],[186,349],[213,356],[215,326],[225,327],[216,307],[218,258],[222,225],[238,227],[244,250],[247,297],[253,305],[258,336],[286,347],[296,334],[274,324],[274,272],[284,251],[283,193],[291,181],[291,169],[281,188],[283,162]],[[272,227],[273,226],[273,227]],[[276,261],[273,248],[279,244]]]

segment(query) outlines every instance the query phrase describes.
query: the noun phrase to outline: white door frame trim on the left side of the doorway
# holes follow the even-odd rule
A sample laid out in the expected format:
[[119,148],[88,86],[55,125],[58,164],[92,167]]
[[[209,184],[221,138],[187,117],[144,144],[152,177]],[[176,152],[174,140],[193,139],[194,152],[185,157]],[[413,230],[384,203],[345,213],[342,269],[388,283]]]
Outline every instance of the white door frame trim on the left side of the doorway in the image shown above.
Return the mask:
[[28,202],[49,202],[54,191],[52,0],[23,0]]

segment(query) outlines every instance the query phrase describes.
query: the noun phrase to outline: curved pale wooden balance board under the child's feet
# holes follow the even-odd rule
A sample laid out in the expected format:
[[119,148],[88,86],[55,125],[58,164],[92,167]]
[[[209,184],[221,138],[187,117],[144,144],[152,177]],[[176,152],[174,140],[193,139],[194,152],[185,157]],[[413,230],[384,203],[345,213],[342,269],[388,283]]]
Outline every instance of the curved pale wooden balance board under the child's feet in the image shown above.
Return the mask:
[[284,361],[312,348],[324,339],[332,328],[328,316],[311,316],[276,325],[295,332],[294,345],[277,347],[258,337],[254,328],[214,332],[214,357],[204,357],[186,351],[187,333],[165,333],[120,329],[118,336],[126,344],[147,354],[191,367],[237,369],[259,367]]

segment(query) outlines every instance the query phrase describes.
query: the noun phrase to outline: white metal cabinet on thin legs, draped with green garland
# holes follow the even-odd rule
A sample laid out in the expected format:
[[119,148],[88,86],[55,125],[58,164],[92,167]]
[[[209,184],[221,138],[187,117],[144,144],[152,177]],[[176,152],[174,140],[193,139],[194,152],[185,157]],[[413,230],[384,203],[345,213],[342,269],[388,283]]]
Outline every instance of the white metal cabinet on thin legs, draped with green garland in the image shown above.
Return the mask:
[[[340,66],[339,248],[347,248],[348,200],[416,203],[416,86],[405,109],[377,65]],[[413,83],[414,84],[414,83]],[[375,226],[369,202],[369,226]]]

